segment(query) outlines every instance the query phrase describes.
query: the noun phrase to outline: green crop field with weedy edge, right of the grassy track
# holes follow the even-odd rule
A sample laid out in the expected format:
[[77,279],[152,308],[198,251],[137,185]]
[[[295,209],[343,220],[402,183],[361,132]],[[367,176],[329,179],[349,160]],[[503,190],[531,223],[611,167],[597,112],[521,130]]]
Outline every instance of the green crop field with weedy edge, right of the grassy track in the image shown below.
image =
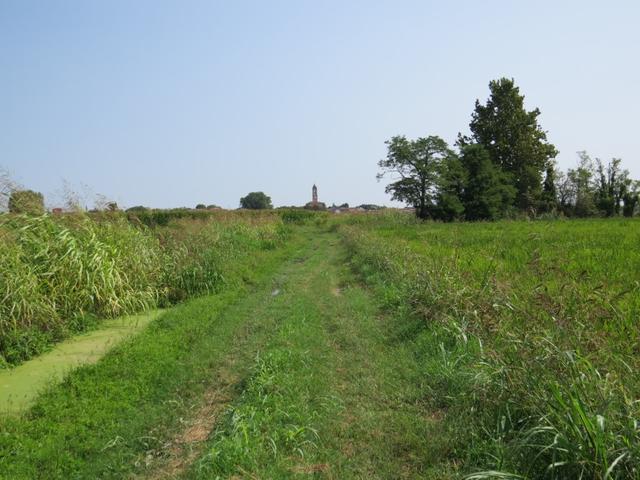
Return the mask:
[[[341,219],[468,478],[636,478],[640,223]],[[452,467],[453,468],[453,467]],[[457,470],[457,469],[456,469]]]

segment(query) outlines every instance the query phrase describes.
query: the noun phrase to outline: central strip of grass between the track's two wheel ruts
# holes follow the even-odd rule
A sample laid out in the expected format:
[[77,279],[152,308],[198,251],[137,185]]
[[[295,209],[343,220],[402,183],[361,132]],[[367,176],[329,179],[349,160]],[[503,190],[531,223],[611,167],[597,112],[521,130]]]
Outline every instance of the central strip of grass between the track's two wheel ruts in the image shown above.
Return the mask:
[[324,360],[330,352],[323,312],[314,300],[326,294],[326,287],[313,288],[325,266],[324,253],[326,246],[314,239],[307,254],[284,272],[286,283],[274,291],[265,312],[274,320],[274,335],[187,476],[283,478],[314,464],[320,451],[318,423],[327,410],[335,410]]

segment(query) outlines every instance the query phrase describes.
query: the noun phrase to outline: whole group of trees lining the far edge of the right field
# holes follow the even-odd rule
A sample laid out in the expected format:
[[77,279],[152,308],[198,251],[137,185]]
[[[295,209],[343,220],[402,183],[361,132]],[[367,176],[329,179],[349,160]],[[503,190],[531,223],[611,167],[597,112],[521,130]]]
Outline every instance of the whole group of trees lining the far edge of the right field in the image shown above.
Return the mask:
[[438,136],[385,142],[378,179],[396,179],[386,187],[393,200],[413,205],[419,218],[444,221],[637,212],[640,182],[620,159],[604,163],[578,152],[576,168],[558,170],[540,110],[525,109],[513,79],[493,80],[489,89],[485,104],[476,100],[470,135],[458,134],[457,151]]

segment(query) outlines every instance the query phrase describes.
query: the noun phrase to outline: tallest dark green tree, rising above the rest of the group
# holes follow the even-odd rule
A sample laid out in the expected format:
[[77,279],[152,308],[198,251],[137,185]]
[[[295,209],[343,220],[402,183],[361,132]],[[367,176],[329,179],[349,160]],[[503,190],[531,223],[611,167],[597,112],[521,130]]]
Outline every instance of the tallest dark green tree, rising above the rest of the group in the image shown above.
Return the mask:
[[489,83],[486,104],[476,100],[471,137],[458,137],[461,147],[478,143],[486,148],[493,163],[508,173],[516,188],[514,204],[523,210],[535,208],[542,193],[543,172],[558,154],[538,124],[540,110],[527,111],[524,95],[513,79]]

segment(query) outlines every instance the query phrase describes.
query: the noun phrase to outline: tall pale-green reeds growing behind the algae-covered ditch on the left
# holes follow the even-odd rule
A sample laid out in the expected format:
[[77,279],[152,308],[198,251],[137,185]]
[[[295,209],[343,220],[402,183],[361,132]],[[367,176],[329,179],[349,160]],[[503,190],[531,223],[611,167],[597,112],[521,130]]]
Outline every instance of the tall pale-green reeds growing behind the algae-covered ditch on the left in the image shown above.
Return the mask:
[[234,259],[284,238],[275,215],[134,226],[121,215],[0,216],[0,367],[97,319],[215,292]]

